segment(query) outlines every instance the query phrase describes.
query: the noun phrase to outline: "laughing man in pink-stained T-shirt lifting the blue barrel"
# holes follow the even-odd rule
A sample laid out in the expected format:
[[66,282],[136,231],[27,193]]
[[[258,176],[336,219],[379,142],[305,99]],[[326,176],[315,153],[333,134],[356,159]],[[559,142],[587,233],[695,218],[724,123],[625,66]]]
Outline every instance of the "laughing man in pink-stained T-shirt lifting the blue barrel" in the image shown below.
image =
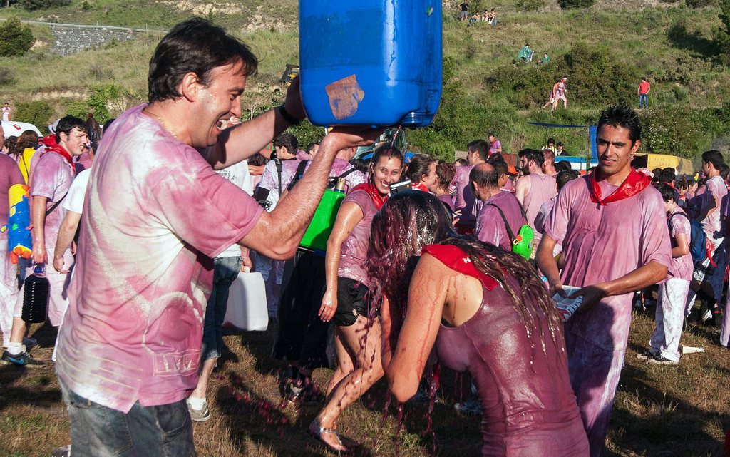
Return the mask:
[[123,113],[101,140],[56,364],[74,457],[195,455],[185,397],[201,365],[212,258],[234,243],[293,256],[337,151],[380,134],[332,131],[310,172],[264,212],[214,170],[304,118],[295,80],[283,105],[221,131],[241,115],[257,65],[222,28],[180,23],[150,61],[149,104]]

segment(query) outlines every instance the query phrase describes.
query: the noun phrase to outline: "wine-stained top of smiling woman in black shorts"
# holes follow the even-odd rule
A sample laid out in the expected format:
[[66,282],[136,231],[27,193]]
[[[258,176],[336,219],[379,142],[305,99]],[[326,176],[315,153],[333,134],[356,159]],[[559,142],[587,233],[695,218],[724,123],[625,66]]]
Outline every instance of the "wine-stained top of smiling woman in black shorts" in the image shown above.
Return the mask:
[[370,277],[366,272],[367,247],[370,243],[370,226],[372,218],[377,213],[372,197],[366,191],[357,190],[342,200],[342,204],[358,205],[363,212],[363,219],[358,222],[350,235],[342,243],[342,252],[339,257],[337,276],[349,277],[364,285],[370,285]]

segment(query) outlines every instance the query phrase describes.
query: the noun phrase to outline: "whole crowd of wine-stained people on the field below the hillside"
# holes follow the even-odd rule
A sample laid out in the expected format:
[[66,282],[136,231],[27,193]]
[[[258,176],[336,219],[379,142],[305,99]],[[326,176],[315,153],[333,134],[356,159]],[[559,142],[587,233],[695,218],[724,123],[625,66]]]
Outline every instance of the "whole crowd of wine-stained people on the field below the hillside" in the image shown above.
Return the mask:
[[[679,363],[696,299],[699,320],[720,324],[720,152],[702,155],[699,183],[637,171],[639,118],[618,106],[602,112],[599,164],[583,176],[556,161],[553,139],[510,166],[494,134],[469,142],[465,163],[407,161],[388,142],[363,161],[357,147],[380,131],[337,127],[304,149],[285,132],[305,118],[298,80],[240,123],[257,66],[222,28],[188,20],[155,50],[148,103],[103,131],[66,116],[45,138],[5,142],[0,218],[10,186],[28,185],[33,243],[20,269],[0,262],[2,360],[49,363],[31,356],[17,274],[47,264],[72,437],[56,455],[194,456],[192,422],[215,414],[228,288],[252,269],[278,324],[283,397],[320,402],[308,431],[337,452],[357,445],[339,416],[377,380],[400,402],[433,401],[441,364],[471,375],[456,409],[483,416],[484,456],[600,456],[636,293],[658,285],[648,363]],[[326,191],[346,194],[326,249],[301,246]],[[564,321],[555,294],[581,297],[578,312]],[[320,390],[324,366],[335,370]]]

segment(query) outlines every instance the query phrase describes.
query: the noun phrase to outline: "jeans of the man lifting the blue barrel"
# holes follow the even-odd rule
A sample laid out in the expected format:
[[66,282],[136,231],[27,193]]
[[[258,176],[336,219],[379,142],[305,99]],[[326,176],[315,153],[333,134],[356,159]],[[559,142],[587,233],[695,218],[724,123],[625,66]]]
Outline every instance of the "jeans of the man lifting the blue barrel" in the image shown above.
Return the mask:
[[185,400],[126,414],[69,391],[60,379],[71,419],[74,457],[195,457],[193,426]]

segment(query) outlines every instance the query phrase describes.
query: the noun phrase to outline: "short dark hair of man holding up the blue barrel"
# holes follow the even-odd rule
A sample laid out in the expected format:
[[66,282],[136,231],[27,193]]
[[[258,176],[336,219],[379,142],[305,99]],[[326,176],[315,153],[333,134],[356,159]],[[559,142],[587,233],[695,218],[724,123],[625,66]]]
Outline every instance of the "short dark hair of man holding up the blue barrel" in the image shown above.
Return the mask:
[[239,62],[247,77],[258,70],[256,56],[223,28],[202,18],[179,23],[164,36],[150,59],[149,101],[180,97],[177,88],[185,74],[195,73],[201,84],[208,85],[212,69]]

